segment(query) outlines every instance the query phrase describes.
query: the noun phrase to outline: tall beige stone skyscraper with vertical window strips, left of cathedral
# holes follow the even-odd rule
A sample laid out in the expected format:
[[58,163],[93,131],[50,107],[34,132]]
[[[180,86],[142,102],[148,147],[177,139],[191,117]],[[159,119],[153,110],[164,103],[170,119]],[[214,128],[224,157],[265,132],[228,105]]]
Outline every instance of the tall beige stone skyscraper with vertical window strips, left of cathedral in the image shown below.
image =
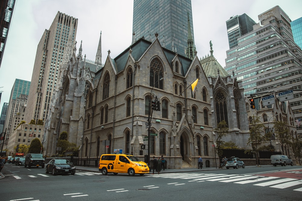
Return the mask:
[[[56,14],[50,28],[44,31],[37,47],[25,121],[45,120],[50,99],[59,79],[58,71],[69,34],[75,42],[78,19],[64,13]],[[67,58],[68,59],[68,58]]]

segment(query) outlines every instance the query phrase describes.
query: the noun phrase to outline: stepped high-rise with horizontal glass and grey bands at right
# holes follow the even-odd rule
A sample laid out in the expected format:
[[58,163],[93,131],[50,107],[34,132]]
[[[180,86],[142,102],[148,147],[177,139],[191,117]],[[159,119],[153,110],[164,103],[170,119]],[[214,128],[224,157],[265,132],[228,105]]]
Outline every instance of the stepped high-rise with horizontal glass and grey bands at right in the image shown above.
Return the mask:
[[[294,42],[291,19],[279,6],[258,18],[253,31],[239,37],[238,46],[226,51],[225,69],[242,80],[244,95],[259,97],[256,110],[272,107],[263,105],[262,97],[278,98],[278,93],[293,90],[294,99],[289,100],[292,112],[295,119],[302,118],[302,51]],[[302,125],[297,133],[302,134]]]

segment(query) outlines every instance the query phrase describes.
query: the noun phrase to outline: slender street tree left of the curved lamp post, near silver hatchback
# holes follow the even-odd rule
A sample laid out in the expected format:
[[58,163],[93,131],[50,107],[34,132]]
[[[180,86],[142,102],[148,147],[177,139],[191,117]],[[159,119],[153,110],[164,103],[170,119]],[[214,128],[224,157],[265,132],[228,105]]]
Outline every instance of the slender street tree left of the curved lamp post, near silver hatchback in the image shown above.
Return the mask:
[[249,139],[247,144],[251,144],[251,143],[255,143],[255,154],[256,154],[256,165],[259,166],[259,162],[258,162],[258,143],[262,143],[262,141],[266,141],[266,137],[263,133],[265,126],[262,124],[262,122],[260,121],[260,117],[255,117],[253,116],[253,121],[252,121],[252,126],[249,129]]

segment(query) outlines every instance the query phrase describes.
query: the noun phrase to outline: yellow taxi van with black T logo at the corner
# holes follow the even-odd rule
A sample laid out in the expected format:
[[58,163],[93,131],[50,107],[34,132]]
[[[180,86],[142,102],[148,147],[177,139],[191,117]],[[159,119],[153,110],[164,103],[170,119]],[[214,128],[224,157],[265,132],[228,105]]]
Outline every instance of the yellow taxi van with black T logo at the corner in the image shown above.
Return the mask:
[[149,167],[145,162],[137,157],[128,154],[103,154],[101,155],[98,170],[106,175],[108,172],[113,174],[128,173],[130,176],[149,173]]

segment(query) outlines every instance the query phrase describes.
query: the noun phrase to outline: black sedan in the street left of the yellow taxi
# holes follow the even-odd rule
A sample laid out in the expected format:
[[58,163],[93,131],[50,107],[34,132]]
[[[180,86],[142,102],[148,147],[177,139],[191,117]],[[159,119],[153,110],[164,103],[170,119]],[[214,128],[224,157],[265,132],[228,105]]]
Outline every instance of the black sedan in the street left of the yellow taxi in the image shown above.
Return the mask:
[[76,173],[76,166],[67,159],[51,159],[45,168],[45,173],[47,174],[48,172],[52,172],[53,175],[69,173],[74,175]]

